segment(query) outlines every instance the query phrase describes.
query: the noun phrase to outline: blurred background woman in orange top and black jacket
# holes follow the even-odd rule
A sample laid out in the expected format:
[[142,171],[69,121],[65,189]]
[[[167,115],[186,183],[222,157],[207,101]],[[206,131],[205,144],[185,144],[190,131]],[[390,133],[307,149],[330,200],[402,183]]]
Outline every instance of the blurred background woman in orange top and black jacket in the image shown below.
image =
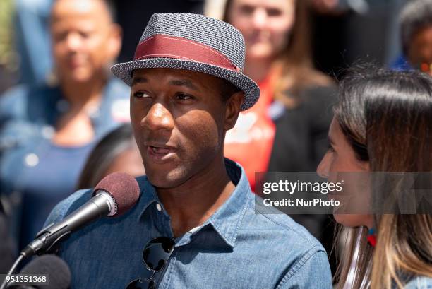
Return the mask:
[[[228,0],[224,20],[244,35],[244,74],[260,87],[260,99],[227,131],[224,155],[240,163],[251,188],[255,172],[313,172],[328,148],[336,100],[332,79],[313,68],[308,1]],[[328,216],[292,215],[327,249]]]

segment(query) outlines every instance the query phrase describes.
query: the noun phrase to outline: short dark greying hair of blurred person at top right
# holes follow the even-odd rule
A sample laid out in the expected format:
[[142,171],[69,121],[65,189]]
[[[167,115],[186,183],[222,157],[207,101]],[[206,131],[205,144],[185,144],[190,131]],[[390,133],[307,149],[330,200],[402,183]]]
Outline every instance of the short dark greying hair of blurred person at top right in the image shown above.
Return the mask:
[[402,49],[407,56],[412,37],[423,28],[432,26],[432,0],[412,0],[400,13]]

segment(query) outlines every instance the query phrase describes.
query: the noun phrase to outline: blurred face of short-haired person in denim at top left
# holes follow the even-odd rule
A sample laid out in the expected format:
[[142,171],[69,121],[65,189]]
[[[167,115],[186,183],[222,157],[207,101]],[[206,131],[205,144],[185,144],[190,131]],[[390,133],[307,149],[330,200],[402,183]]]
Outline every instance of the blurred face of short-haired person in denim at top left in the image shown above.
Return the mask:
[[52,45],[63,81],[104,75],[121,46],[119,27],[100,0],[57,0],[52,9]]

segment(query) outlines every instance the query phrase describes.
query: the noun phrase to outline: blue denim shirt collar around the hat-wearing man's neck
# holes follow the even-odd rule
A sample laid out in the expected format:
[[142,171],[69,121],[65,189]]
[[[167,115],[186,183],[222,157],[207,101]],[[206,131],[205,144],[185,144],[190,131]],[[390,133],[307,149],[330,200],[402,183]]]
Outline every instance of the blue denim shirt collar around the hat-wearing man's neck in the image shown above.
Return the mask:
[[[241,220],[244,218],[246,209],[248,208],[250,198],[253,198],[251,187],[249,186],[246,173],[244,172],[241,165],[234,163],[232,160],[225,159],[225,167],[229,178],[232,180],[236,188],[232,191],[231,196],[227,201],[215,211],[215,213],[208,218],[197,230],[193,232],[186,232],[185,235],[179,237],[179,242],[176,245],[187,244],[191,240],[192,235],[199,234],[204,228],[212,228],[217,233],[230,249],[234,248],[239,226]],[[155,210],[155,206],[152,204],[160,204],[160,208],[164,213],[165,218],[170,219],[167,211],[160,199],[157,196],[155,187],[148,182],[147,177],[138,178],[138,184],[141,188],[141,196],[138,203],[138,207],[142,208],[138,210],[138,221],[141,220],[143,214],[150,213],[150,210]],[[152,215],[153,216],[153,215]]]

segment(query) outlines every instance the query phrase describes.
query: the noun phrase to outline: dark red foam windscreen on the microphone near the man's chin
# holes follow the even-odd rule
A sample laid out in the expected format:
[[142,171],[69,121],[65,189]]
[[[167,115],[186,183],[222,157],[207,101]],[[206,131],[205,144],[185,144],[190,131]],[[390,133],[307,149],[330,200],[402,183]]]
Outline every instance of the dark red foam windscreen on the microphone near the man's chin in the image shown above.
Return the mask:
[[120,216],[136,204],[140,196],[140,187],[134,177],[124,172],[114,172],[104,177],[95,187],[97,190],[107,191],[117,204],[117,213],[112,216]]

